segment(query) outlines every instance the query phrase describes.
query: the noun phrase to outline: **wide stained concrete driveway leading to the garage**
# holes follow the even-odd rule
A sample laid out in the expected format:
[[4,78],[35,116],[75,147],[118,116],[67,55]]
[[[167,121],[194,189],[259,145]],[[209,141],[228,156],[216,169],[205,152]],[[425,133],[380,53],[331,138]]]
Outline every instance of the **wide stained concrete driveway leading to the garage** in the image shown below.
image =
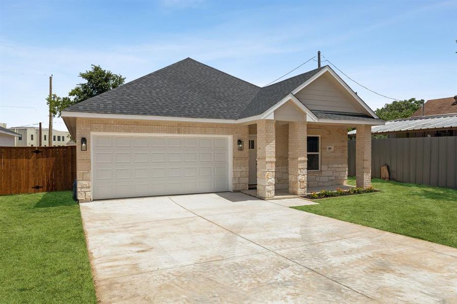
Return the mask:
[[99,300],[457,301],[457,249],[278,203],[294,204],[239,193],[81,204]]

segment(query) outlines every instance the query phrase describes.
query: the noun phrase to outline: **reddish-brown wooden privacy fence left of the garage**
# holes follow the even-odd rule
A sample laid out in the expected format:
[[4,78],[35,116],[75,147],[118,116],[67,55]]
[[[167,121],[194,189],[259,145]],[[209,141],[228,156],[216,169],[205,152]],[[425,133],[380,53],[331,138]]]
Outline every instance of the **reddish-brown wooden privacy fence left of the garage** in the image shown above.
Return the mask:
[[0,195],[71,190],[76,147],[0,147]]

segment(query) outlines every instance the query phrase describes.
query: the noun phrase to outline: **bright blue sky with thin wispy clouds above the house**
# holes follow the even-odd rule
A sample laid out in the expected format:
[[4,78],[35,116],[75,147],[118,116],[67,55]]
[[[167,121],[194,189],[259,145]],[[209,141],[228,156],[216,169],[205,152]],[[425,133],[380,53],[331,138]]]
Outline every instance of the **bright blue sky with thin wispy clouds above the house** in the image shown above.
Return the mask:
[[[46,125],[51,73],[54,92],[66,96],[91,64],[131,81],[186,57],[263,86],[321,50],[386,96],[449,97],[457,94],[456,15],[456,1],[2,0],[0,122]],[[390,102],[341,76],[373,109]]]

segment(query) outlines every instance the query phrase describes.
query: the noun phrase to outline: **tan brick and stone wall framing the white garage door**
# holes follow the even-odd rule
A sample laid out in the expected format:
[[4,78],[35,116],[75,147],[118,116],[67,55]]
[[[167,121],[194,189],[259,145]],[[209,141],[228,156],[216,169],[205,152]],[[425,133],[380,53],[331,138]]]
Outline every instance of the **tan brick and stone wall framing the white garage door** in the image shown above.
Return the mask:
[[[90,132],[233,135],[233,191],[248,189],[249,159],[246,144],[249,140],[249,127],[246,125],[77,118],[77,187],[80,202],[92,200]],[[87,151],[79,148],[82,137],[87,139]],[[243,151],[238,151],[238,139],[246,143]]]

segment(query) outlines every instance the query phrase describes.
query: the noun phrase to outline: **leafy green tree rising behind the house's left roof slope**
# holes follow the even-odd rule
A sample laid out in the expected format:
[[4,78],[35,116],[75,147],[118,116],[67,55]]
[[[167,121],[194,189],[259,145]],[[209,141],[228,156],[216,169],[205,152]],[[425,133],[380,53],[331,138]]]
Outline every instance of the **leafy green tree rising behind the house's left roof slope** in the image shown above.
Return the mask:
[[125,82],[125,77],[122,77],[122,75],[114,74],[94,64],[91,65],[91,70],[79,73],[79,77],[86,80],[86,82],[78,84],[68,93],[68,97],[59,97],[54,94],[51,101],[49,97],[46,98],[54,116],[60,117],[64,108],[117,88]]

